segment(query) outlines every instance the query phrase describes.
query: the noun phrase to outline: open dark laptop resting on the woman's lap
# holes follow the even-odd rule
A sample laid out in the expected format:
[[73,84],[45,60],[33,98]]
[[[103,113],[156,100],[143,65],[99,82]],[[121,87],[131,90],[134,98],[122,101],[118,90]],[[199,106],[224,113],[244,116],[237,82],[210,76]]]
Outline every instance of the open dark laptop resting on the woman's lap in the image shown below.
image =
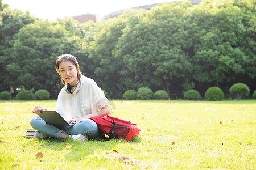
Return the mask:
[[75,124],[69,124],[56,111],[40,111],[40,117],[47,123],[56,126],[59,129],[67,129]]

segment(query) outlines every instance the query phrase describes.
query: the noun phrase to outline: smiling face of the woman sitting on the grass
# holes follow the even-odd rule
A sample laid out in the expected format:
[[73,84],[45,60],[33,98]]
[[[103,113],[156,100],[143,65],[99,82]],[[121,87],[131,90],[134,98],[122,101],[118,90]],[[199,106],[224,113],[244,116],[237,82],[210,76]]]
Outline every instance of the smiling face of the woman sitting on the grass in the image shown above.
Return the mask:
[[77,69],[76,66],[73,65],[70,61],[63,61],[59,64],[60,76],[65,82],[67,82],[70,86],[77,86],[78,82],[77,78]]

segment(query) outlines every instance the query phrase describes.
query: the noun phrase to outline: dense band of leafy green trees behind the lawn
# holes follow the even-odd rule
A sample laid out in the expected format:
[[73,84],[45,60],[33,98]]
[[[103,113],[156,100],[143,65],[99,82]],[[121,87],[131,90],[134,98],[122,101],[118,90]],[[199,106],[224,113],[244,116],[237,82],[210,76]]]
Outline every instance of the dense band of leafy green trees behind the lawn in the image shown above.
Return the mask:
[[112,98],[141,87],[164,90],[169,98],[242,81],[255,88],[252,0],[170,2],[84,24],[34,18],[1,1],[0,14],[0,91],[46,89],[55,98],[63,87],[55,60],[65,53]]

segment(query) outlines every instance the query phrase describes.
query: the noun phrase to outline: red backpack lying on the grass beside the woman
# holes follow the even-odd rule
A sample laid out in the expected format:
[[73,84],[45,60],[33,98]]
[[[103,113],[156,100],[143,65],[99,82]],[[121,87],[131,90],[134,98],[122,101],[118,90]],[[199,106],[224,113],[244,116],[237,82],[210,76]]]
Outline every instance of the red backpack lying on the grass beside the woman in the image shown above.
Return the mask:
[[141,131],[136,124],[109,115],[104,117],[90,117],[90,119],[96,122],[98,128],[103,133],[114,139],[122,138],[130,141]]

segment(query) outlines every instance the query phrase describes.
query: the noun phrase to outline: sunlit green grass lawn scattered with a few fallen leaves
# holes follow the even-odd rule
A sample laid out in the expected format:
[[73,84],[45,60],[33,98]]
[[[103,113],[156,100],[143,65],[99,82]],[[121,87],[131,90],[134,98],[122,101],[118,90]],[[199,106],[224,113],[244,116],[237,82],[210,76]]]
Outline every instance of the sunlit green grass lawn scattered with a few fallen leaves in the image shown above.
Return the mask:
[[0,169],[256,169],[256,100],[114,100],[112,116],[141,128],[132,141],[22,137],[34,106],[55,102],[0,101]]

